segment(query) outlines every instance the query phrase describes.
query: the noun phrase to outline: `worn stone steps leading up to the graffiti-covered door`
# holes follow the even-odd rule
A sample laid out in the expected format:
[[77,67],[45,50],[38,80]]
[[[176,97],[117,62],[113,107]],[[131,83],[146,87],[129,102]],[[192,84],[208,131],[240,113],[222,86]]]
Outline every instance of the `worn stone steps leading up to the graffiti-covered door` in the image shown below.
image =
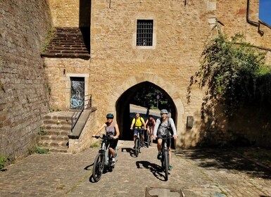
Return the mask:
[[73,112],[54,112],[44,116],[44,134],[37,139],[37,145],[50,152],[67,153]]

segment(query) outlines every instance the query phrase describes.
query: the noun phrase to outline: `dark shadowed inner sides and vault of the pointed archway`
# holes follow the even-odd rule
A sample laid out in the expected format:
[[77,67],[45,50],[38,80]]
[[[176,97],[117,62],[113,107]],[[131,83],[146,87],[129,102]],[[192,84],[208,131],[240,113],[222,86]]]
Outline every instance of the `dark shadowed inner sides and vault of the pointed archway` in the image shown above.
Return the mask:
[[[164,89],[158,87],[156,84],[153,84],[151,82],[140,82],[123,92],[123,94],[120,95],[120,97],[115,103],[117,122],[120,127],[120,139],[132,140],[132,131],[130,131],[130,125],[132,122],[132,118],[134,117],[134,113],[130,112],[130,102],[132,101],[133,96],[137,94],[140,89],[149,86],[153,86],[163,92],[164,96],[168,99],[171,108],[167,109],[170,110],[171,117],[175,121],[175,125],[177,127],[177,108],[170,95]],[[144,119],[146,120],[146,118]]]

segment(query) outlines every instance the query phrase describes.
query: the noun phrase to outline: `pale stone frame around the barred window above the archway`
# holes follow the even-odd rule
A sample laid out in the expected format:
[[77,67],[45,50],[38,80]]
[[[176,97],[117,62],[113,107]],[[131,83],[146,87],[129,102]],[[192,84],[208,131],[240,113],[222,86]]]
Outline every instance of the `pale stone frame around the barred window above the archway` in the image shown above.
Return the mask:
[[[152,46],[137,46],[137,21],[138,20],[153,20],[153,45]],[[139,15],[137,18],[134,19],[134,33],[132,39],[132,47],[134,49],[156,49],[156,20],[153,16],[148,15]]]

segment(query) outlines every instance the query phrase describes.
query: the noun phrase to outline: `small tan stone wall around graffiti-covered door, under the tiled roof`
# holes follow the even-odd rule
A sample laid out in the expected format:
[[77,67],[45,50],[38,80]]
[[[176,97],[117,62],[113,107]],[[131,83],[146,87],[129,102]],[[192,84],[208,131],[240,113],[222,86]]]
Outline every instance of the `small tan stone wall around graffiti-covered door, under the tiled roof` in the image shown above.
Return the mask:
[[84,77],[84,94],[89,92],[89,60],[78,58],[44,58],[46,81],[51,90],[51,110],[70,110],[70,77]]

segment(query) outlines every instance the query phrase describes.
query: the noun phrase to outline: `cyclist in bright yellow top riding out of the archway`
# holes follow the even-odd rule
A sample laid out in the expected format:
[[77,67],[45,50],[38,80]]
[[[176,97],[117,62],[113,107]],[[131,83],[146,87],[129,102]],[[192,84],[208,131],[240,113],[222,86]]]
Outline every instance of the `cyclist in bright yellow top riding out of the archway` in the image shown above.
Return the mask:
[[144,147],[144,133],[143,129],[146,129],[145,120],[140,116],[138,112],[135,113],[135,117],[132,120],[132,124],[130,129],[134,129],[134,147],[135,147],[135,139],[137,139],[137,133],[139,132],[141,136],[141,147]]

